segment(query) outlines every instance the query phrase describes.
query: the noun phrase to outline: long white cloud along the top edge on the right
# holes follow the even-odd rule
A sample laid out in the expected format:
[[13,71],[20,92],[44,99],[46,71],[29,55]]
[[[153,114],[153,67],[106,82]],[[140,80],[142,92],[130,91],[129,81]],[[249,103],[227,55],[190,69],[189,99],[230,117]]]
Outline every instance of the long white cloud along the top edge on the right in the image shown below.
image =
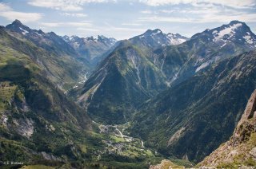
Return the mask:
[[178,5],[181,3],[196,5],[204,2],[222,6],[231,6],[235,8],[256,6],[255,0],[139,0],[139,2],[146,3],[146,5],[149,6]]

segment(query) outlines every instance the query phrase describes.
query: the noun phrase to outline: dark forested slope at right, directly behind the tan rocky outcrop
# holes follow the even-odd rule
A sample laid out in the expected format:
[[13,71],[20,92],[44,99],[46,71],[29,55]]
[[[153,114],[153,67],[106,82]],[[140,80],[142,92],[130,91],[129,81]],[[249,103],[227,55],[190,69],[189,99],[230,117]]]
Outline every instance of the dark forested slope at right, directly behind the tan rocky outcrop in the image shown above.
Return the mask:
[[256,53],[226,59],[142,106],[130,132],[194,162],[227,140],[256,85]]

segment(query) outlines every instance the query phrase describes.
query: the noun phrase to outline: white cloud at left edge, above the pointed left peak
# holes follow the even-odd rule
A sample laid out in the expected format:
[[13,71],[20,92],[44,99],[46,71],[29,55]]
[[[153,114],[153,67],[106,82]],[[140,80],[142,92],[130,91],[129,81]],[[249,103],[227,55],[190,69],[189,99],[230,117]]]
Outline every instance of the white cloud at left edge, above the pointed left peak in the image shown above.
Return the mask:
[[14,11],[10,6],[7,6],[4,3],[0,3],[0,16],[4,17],[10,21],[14,21],[15,19],[20,20],[21,22],[36,22],[42,18],[42,14],[39,13],[24,13]]

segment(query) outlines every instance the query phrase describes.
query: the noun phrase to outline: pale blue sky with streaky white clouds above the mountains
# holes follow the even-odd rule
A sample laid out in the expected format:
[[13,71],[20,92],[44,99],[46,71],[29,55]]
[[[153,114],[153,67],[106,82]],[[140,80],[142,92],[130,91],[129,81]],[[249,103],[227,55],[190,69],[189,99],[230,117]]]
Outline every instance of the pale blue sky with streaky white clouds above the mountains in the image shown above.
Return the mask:
[[0,0],[0,25],[15,19],[61,36],[118,40],[147,29],[191,37],[232,20],[256,33],[256,0]]

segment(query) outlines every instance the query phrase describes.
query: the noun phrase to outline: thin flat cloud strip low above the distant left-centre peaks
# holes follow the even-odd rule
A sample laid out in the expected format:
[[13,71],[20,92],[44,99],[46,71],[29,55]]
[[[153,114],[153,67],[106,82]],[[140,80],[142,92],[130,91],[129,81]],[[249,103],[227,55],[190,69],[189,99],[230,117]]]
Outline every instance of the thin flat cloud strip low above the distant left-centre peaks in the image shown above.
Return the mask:
[[91,22],[41,22],[42,26],[59,27],[59,26],[92,26]]

